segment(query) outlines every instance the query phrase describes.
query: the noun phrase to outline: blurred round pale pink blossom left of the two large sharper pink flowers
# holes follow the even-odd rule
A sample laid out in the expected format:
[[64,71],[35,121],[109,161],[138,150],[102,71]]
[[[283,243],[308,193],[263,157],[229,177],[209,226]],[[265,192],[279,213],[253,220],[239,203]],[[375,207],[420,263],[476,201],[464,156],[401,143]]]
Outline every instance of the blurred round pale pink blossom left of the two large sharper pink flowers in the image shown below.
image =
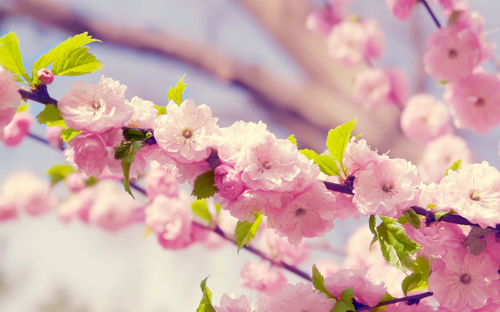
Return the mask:
[[446,106],[428,93],[415,94],[406,103],[400,125],[403,134],[425,144],[451,132],[449,112]]

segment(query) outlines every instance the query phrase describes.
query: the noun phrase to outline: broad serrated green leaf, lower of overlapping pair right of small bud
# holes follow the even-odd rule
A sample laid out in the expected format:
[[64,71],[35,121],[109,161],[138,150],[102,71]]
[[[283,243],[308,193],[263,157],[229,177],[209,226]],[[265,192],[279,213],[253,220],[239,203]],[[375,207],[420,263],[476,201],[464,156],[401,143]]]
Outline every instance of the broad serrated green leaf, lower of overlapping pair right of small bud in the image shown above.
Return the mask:
[[57,58],[52,64],[52,74],[59,76],[78,76],[100,69],[100,60],[88,53],[88,47],[77,47],[67,51],[64,57]]

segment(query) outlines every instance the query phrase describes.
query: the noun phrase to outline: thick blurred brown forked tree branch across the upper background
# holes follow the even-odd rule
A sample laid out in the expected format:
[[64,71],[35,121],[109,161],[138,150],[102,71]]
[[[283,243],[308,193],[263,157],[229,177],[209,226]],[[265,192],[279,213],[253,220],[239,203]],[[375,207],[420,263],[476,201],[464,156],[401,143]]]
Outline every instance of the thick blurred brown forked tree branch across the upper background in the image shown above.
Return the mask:
[[[272,7],[290,3],[305,3],[302,0],[244,1],[249,8],[258,8],[265,13],[270,22]],[[259,6],[260,5],[260,6]],[[331,59],[326,58],[324,42],[320,38],[307,39],[303,27],[303,12],[300,16],[292,14],[290,7],[274,15],[276,22],[291,24],[288,44],[285,46],[292,55],[300,55],[303,67],[310,60],[308,75],[311,79],[301,84],[289,81],[286,77],[267,71],[259,66],[241,62],[225,55],[213,46],[197,43],[166,32],[118,25],[102,19],[92,19],[78,15],[73,10],[53,1],[4,1],[0,8],[0,20],[9,16],[25,16],[36,22],[67,30],[71,33],[88,31],[92,36],[105,43],[151,52],[164,57],[175,58],[191,66],[208,72],[218,79],[239,85],[274,110],[281,122],[294,131],[301,147],[318,151],[324,149],[324,139],[328,129],[359,115],[356,133],[364,133],[364,138],[380,151],[391,149],[392,157],[412,158],[408,141],[402,137],[398,127],[398,110],[383,107],[378,111],[364,112],[347,92],[338,85],[350,85],[345,69],[334,67]],[[268,12],[264,10],[268,9]],[[279,17],[279,18],[278,18]],[[299,27],[300,25],[300,27]],[[277,29],[277,28],[276,28]],[[298,36],[300,34],[300,36]],[[308,35],[309,37],[311,34]],[[291,38],[293,40],[291,40]],[[303,40],[303,41],[298,41]],[[301,42],[301,44],[296,44]],[[295,46],[295,48],[292,47]],[[298,47],[302,47],[300,50]],[[316,52],[312,53],[311,50]],[[311,54],[308,54],[311,53]],[[318,55],[323,55],[319,58]],[[297,57],[295,57],[297,58]],[[326,77],[326,78],[321,78]],[[323,80],[326,79],[326,80]],[[321,81],[321,82],[318,82]],[[324,83],[327,81],[328,83]],[[333,87],[337,85],[337,87]],[[377,131],[373,131],[376,129]]]

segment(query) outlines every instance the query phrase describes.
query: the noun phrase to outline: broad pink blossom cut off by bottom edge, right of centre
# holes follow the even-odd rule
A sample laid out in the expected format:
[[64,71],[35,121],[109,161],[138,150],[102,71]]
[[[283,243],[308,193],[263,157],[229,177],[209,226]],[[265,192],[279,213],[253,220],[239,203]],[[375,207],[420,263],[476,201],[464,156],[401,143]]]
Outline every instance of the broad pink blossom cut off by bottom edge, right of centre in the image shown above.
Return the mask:
[[269,312],[329,312],[335,299],[328,299],[326,294],[314,291],[307,283],[288,284],[279,296],[272,299]]

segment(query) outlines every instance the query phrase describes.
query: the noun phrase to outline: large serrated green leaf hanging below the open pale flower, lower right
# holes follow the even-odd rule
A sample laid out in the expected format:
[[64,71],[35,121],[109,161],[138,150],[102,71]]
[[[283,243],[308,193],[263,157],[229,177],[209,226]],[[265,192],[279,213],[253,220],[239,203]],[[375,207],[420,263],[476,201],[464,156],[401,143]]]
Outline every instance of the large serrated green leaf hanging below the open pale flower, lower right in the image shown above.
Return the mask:
[[410,255],[422,246],[408,239],[404,228],[396,219],[380,216],[382,223],[376,228],[380,251],[391,266],[408,272],[412,267]]

